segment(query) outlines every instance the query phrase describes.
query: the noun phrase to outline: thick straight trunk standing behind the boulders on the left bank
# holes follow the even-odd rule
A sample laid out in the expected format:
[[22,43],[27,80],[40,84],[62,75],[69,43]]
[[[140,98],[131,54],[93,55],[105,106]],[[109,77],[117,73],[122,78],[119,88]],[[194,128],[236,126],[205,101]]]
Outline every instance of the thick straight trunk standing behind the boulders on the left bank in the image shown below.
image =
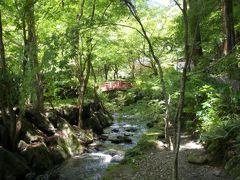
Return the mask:
[[29,63],[32,65],[32,80],[33,86],[35,88],[35,94],[33,95],[33,107],[37,111],[44,111],[44,100],[43,100],[43,86],[42,86],[42,75],[40,73],[40,67],[38,62],[38,45],[37,45],[37,35],[36,35],[36,25],[35,25],[35,12],[34,0],[27,1],[27,27],[28,27],[28,48],[27,57],[29,58]]

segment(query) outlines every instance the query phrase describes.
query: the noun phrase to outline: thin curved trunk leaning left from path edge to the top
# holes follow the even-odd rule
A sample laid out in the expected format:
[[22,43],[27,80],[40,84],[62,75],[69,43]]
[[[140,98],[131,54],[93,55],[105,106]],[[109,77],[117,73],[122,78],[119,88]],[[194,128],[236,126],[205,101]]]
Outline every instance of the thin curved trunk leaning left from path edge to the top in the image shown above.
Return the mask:
[[168,144],[168,147],[170,149],[172,149],[172,147],[173,147],[172,138],[171,138],[170,132],[169,132],[170,131],[170,126],[171,126],[170,112],[169,112],[170,108],[169,108],[169,103],[168,103],[169,102],[169,96],[167,94],[166,85],[165,85],[165,81],[164,81],[164,78],[163,78],[164,75],[163,75],[163,69],[162,69],[161,61],[159,60],[159,58],[156,56],[156,54],[154,52],[152,42],[151,42],[150,38],[148,37],[148,34],[147,34],[143,24],[142,24],[142,21],[141,21],[140,17],[138,16],[138,13],[135,9],[135,6],[129,0],[124,0],[124,2],[127,5],[128,9],[131,12],[131,14],[133,15],[133,17],[135,18],[135,20],[140,25],[141,30],[142,30],[141,35],[147,41],[149,52],[150,52],[153,60],[155,61],[156,65],[157,65],[160,84],[162,86],[162,94],[163,94],[163,97],[164,97],[164,103],[165,103],[165,107],[166,107],[165,118],[164,118],[164,120],[165,120],[165,139],[166,139],[166,142]]

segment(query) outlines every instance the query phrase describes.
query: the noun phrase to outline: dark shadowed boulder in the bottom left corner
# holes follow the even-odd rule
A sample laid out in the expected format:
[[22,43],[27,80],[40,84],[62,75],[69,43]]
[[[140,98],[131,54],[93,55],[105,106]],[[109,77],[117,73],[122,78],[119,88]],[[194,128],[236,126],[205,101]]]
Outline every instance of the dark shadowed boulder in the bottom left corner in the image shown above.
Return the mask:
[[22,159],[0,147],[0,179],[24,179],[30,168]]

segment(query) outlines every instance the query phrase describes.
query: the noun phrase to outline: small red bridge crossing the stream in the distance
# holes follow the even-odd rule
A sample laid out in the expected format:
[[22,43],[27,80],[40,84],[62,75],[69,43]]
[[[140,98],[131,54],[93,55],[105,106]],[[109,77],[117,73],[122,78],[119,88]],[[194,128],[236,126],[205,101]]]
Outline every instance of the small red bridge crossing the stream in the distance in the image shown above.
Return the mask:
[[105,82],[100,86],[100,89],[102,92],[108,92],[108,91],[123,91],[127,89],[131,89],[133,87],[132,83],[126,82],[126,81],[109,81]]

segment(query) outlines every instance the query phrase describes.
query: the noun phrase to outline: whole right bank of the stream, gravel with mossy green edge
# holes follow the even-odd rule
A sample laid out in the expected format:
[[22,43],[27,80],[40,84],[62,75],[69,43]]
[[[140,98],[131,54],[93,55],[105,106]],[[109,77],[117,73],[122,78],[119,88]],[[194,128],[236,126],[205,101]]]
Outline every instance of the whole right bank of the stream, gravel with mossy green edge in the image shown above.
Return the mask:
[[[173,153],[165,148],[157,129],[146,132],[139,144],[127,152],[126,158],[119,164],[108,168],[104,180],[169,180],[172,173]],[[188,137],[182,137],[179,153],[179,176],[184,180],[231,180],[221,166],[207,160],[190,160],[191,155],[203,155],[201,144]],[[190,163],[189,161],[192,161]]]

